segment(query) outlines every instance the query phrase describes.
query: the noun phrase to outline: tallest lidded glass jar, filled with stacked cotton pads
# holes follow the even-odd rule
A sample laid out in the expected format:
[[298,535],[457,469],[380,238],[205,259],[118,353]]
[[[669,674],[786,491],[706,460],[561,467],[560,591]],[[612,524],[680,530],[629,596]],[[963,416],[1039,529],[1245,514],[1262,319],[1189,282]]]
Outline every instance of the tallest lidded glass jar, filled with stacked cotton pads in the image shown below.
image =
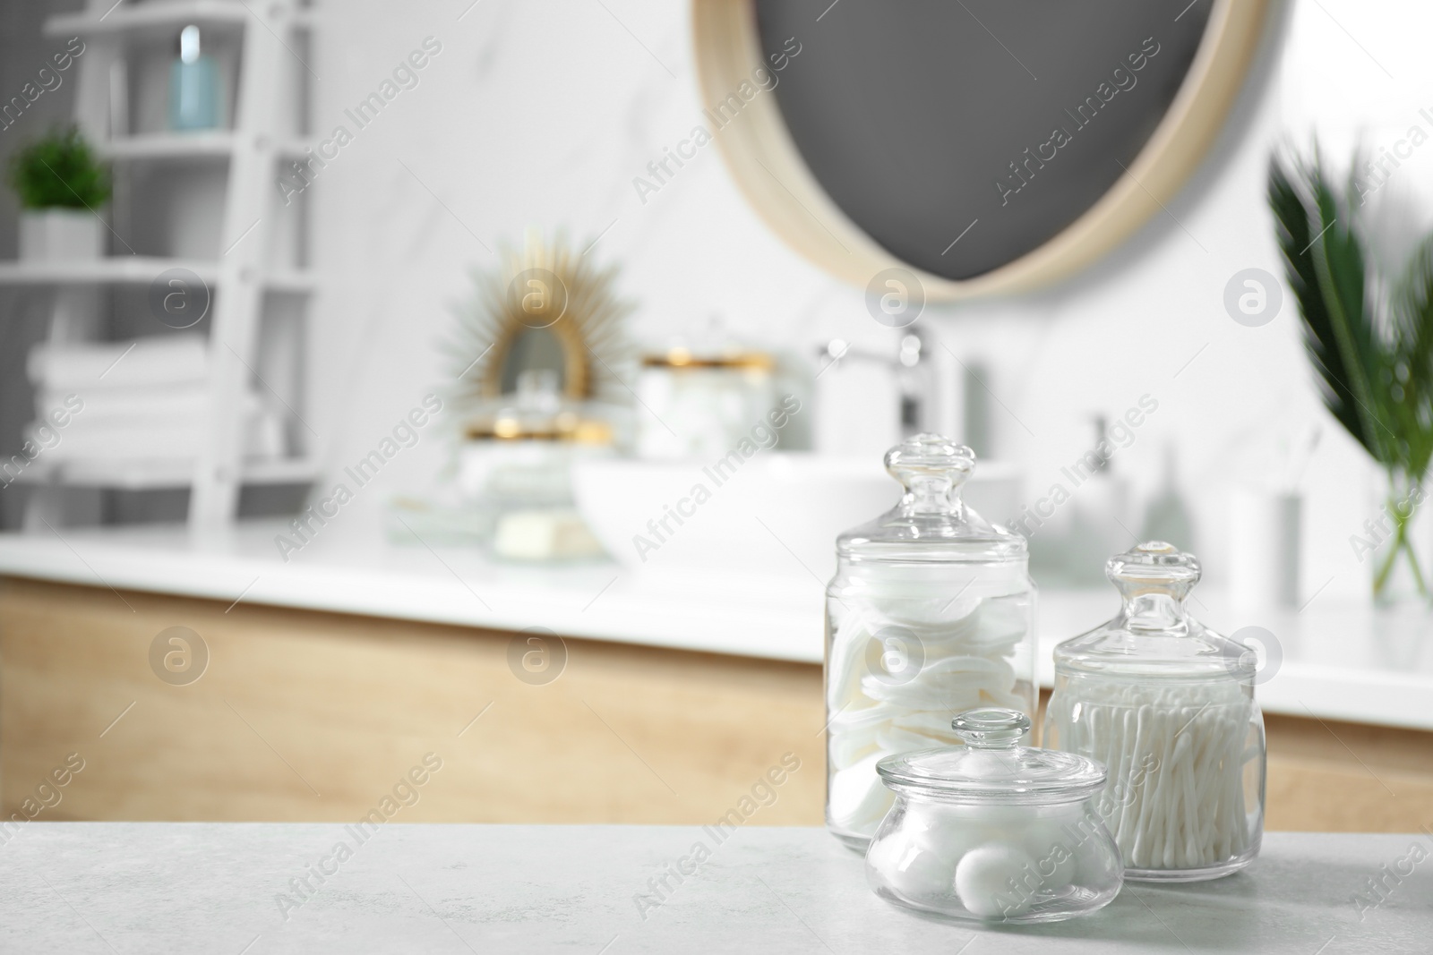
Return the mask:
[[974,452],[936,434],[886,454],[904,493],[837,538],[827,587],[827,826],[866,850],[891,806],[886,756],[959,746],[957,713],[1035,714],[1035,584],[1025,538],[960,500]]

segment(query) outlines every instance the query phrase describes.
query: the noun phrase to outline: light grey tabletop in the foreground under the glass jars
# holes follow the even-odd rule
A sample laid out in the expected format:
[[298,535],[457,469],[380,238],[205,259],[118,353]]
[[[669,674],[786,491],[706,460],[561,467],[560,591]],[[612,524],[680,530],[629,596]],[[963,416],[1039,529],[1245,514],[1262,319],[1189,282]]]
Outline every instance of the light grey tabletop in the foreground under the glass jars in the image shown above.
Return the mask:
[[973,929],[880,901],[821,829],[29,823],[0,845],[0,899],[3,952],[1426,954],[1433,836],[1271,833],[1218,882]]

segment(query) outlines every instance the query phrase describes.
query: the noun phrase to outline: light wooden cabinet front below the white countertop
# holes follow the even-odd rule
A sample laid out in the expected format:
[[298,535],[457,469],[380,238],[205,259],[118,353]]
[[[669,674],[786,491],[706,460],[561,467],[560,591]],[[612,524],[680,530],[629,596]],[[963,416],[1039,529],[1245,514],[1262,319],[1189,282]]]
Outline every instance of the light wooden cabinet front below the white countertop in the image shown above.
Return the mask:
[[[4,578],[0,666],[11,819],[823,820],[814,664]],[[1433,820],[1433,733],[1268,740],[1270,829]]]

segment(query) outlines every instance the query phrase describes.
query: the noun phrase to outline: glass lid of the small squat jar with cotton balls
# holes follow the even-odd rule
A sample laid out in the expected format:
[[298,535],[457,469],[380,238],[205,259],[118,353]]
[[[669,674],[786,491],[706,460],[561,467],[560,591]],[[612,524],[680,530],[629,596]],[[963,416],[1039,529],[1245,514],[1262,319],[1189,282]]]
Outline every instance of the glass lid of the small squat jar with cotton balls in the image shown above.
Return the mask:
[[964,746],[887,756],[876,765],[897,792],[953,802],[1059,803],[1088,799],[1105,785],[1105,767],[1053,749],[1020,746],[1030,717],[1019,710],[982,707],[950,722]]

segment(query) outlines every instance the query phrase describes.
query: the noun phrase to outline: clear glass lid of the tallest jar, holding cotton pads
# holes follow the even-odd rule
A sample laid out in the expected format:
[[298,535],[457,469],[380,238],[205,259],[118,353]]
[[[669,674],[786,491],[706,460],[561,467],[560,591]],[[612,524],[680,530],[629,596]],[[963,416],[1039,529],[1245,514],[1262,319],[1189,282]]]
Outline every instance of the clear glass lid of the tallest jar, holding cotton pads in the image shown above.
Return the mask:
[[1019,561],[1025,538],[990,524],[960,500],[976,452],[939,434],[917,434],[886,452],[904,488],[900,503],[835,538],[843,558],[894,561]]

